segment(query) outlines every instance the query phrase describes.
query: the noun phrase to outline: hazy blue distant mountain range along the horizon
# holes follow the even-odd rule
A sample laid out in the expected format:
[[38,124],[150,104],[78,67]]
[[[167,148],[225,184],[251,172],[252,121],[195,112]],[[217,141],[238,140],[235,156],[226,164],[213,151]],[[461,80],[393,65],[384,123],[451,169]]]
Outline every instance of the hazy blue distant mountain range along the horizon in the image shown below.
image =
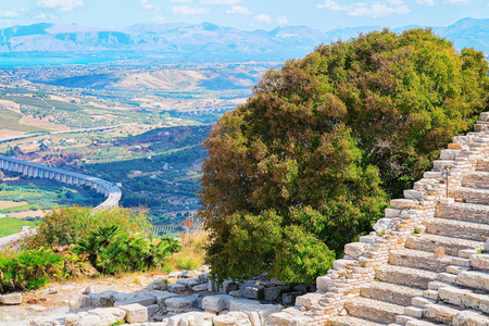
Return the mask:
[[[424,26],[394,28],[394,32]],[[359,33],[379,30],[380,26],[361,26],[322,33],[305,26],[287,26],[273,30],[253,32],[217,26],[210,23],[141,24],[122,29],[101,29],[79,25],[35,24],[0,29],[0,54],[25,52],[104,52],[208,54],[208,55],[272,55],[298,58],[319,43],[348,40]],[[474,47],[489,53],[489,18],[464,18],[448,27],[432,27],[440,36],[452,40],[456,48]],[[9,53],[9,54],[8,54]],[[34,55],[34,54],[30,54]]]

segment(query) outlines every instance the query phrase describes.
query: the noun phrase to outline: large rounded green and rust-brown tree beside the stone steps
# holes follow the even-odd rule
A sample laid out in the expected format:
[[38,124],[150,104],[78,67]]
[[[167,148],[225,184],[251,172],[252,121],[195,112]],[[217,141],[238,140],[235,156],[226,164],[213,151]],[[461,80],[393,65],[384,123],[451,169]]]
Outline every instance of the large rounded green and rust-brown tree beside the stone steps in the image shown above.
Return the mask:
[[481,52],[429,29],[361,35],[269,71],[204,142],[214,273],[324,274],[487,109],[487,74]]

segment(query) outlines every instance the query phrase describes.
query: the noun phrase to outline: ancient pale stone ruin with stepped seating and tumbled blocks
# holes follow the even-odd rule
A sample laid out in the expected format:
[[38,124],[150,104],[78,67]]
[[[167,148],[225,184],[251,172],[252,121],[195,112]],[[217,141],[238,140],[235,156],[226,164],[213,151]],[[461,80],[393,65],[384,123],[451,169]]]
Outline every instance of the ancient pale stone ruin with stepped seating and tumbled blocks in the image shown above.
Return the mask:
[[[403,199],[390,202],[375,231],[346,246],[344,259],[335,261],[334,268],[317,278],[314,292],[300,296],[306,290],[299,288],[280,292],[285,285],[273,281],[228,281],[217,289],[208,274],[186,272],[175,276],[175,284],[156,280],[136,293],[87,289],[70,301],[73,313],[64,322],[488,326],[488,223],[489,113],[482,113],[474,133],[454,137],[432,171],[414,189],[405,190]],[[272,298],[267,296],[275,300],[281,296],[281,304],[264,301]],[[15,299],[9,298],[3,300]],[[293,299],[296,305],[284,305]],[[43,319],[32,325],[57,323]]]

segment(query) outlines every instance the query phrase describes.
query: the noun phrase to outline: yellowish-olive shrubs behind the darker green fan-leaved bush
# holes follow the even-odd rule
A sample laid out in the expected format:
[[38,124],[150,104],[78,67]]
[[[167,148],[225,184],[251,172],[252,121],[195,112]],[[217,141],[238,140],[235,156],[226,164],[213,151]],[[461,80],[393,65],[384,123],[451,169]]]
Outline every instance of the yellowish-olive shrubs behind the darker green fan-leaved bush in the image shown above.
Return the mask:
[[58,208],[48,213],[38,227],[30,246],[74,244],[87,239],[100,227],[117,225],[122,230],[149,234],[150,223],[145,211],[123,208],[93,211],[92,208]]

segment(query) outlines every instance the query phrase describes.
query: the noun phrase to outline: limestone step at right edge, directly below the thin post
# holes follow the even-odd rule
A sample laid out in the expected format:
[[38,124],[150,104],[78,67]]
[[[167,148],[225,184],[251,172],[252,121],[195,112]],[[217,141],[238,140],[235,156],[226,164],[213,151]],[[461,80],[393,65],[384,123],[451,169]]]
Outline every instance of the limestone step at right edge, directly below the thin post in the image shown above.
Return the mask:
[[454,202],[448,205],[437,205],[437,217],[459,220],[475,223],[489,223],[489,205],[466,202]]

